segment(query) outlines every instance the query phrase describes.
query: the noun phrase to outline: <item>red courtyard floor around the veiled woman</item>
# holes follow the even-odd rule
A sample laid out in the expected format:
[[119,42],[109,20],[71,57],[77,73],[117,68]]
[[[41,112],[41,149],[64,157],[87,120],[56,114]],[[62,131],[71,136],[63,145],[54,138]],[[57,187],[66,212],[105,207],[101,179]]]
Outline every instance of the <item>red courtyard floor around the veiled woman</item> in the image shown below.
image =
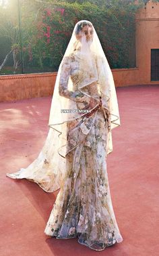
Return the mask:
[[77,242],[47,238],[56,193],[5,173],[27,167],[48,131],[51,98],[0,104],[2,256],[159,255],[159,86],[117,88],[121,127],[108,156],[113,208],[123,242],[101,252]]

